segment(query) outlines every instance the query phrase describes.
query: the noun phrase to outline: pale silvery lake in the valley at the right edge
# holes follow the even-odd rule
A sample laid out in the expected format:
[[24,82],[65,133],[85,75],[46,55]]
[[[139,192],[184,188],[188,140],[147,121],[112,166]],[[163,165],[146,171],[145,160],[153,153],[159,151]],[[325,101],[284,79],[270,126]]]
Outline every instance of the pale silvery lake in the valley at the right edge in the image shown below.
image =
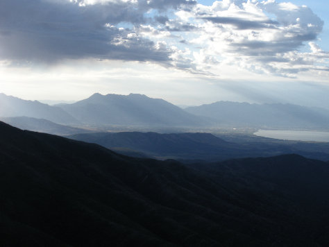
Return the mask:
[[258,130],[254,135],[292,141],[329,142],[329,132],[296,130]]

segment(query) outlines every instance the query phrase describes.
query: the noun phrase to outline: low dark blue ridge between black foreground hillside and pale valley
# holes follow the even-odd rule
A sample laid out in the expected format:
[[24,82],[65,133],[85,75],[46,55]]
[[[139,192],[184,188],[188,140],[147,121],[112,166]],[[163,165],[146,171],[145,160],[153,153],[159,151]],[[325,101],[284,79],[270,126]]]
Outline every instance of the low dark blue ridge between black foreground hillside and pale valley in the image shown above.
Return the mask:
[[[276,144],[270,139],[264,142],[226,142],[209,133],[85,133],[69,136],[83,142],[99,144],[119,153],[119,148],[135,151],[137,156],[144,153],[149,157],[175,160],[219,161],[237,157],[268,157],[287,153],[298,153],[305,157],[329,160],[328,144],[301,143]],[[126,154],[126,153],[124,153]],[[128,153],[127,153],[128,154]]]

